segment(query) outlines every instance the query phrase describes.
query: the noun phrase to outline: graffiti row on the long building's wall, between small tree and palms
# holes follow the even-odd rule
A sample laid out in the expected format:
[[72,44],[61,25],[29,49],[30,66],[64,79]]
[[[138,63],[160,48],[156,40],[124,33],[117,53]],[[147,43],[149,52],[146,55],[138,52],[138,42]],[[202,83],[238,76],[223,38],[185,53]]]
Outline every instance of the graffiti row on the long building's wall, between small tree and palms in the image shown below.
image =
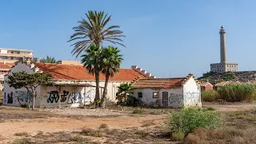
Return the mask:
[[91,102],[92,99],[95,97],[95,90],[89,90],[86,93],[81,92],[70,92],[67,90],[63,90],[62,95],[59,96],[57,90],[50,91],[49,97],[47,98],[48,103],[57,103],[60,99],[60,102],[66,102],[67,104],[72,103],[84,103],[84,102]]

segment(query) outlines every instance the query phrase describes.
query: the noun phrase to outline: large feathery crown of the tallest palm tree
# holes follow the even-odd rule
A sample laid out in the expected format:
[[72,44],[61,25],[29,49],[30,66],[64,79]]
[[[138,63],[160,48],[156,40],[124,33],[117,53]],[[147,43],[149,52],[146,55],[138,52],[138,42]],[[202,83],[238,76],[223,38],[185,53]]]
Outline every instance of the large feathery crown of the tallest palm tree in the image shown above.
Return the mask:
[[[88,49],[92,45],[96,47],[102,44],[102,41],[112,42],[114,44],[119,44],[124,46],[121,42],[120,37],[125,37],[122,35],[122,31],[118,30],[120,26],[109,26],[106,27],[107,23],[110,22],[111,15],[108,16],[104,11],[88,11],[86,14],[86,19],[82,18],[82,21],[78,21],[79,26],[73,28],[75,33],[70,36],[70,41],[75,41],[74,49],[71,53],[81,54],[83,50]],[[81,40],[81,41],[78,41]]]

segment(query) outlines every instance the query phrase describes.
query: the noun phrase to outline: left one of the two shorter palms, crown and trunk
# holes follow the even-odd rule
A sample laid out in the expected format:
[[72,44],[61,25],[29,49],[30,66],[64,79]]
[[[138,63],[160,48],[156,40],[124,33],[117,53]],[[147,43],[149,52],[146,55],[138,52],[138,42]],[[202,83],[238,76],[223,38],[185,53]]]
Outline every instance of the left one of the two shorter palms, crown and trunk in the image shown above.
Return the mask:
[[94,102],[99,99],[99,74],[102,71],[102,48],[92,45],[86,49],[86,54],[82,54],[82,64],[89,71],[90,74],[95,75],[96,94]]

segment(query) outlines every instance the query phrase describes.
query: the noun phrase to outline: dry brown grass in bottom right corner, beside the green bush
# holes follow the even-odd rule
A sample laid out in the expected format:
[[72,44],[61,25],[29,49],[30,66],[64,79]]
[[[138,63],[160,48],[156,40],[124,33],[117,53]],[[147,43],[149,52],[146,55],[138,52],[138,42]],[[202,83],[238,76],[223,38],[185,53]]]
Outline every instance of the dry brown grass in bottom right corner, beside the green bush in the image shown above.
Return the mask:
[[222,128],[196,129],[189,138],[185,138],[185,143],[256,143],[256,109],[228,112],[225,115],[226,122]]

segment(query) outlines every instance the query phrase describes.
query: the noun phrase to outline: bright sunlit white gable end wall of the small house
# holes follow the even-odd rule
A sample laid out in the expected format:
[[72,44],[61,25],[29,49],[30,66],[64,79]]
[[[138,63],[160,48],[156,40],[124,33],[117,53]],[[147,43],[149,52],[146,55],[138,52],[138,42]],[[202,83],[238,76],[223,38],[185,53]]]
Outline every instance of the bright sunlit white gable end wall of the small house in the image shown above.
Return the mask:
[[190,78],[183,84],[184,106],[202,106],[200,85]]

